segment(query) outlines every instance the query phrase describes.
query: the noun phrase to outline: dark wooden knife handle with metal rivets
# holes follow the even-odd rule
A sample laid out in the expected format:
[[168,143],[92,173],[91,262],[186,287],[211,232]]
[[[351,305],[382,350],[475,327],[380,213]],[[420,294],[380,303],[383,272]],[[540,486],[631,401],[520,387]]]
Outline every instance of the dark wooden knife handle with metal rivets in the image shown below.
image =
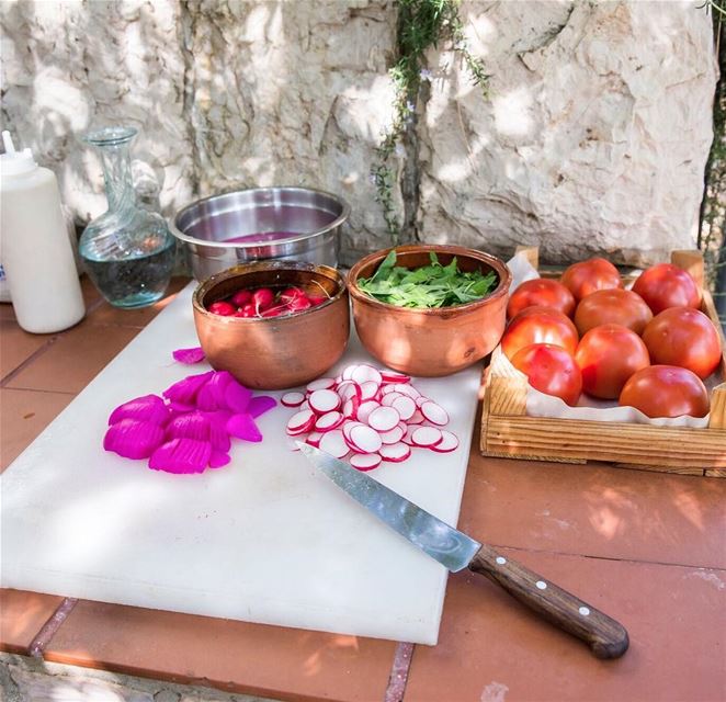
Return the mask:
[[622,624],[517,561],[484,545],[469,568],[500,585],[522,604],[586,642],[598,658],[619,658],[628,646]]

